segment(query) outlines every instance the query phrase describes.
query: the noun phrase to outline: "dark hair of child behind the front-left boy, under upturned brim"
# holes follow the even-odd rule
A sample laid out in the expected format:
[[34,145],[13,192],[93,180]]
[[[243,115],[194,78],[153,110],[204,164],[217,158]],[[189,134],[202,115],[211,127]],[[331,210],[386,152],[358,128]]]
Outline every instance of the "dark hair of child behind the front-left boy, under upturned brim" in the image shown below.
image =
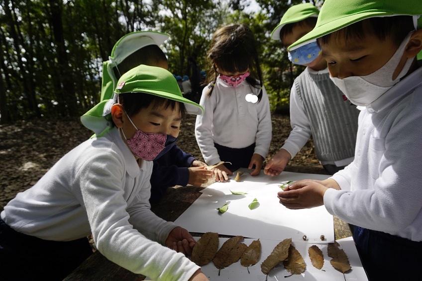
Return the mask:
[[167,62],[167,57],[163,50],[157,45],[148,45],[129,55],[118,64],[118,70],[116,68],[113,69],[114,75],[119,79],[123,73],[126,73],[137,66],[158,66],[162,61]]

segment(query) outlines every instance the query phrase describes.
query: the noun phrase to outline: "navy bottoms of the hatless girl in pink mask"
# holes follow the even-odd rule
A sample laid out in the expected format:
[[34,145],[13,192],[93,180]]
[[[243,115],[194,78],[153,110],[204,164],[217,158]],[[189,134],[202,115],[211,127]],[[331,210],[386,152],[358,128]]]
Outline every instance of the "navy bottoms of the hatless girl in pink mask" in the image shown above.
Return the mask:
[[217,149],[221,161],[231,163],[231,165],[225,163],[224,166],[232,172],[239,168],[248,168],[255,152],[255,143],[243,148],[231,148],[214,142],[214,147]]

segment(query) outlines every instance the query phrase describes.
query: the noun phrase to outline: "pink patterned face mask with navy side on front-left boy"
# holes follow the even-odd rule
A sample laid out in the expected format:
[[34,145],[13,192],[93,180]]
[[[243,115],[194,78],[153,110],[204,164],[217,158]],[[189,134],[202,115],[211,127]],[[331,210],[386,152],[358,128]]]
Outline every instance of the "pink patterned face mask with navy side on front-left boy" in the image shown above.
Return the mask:
[[136,129],[135,135],[133,135],[133,137],[128,140],[124,135],[123,130],[120,130],[123,134],[123,137],[126,139],[130,150],[137,157],[144,159],[145,161],[152,161],[158,159],[176,144],[177,138],[165,134],[144,133],[136,128],[135,124],[133,124],[129,116],[127,116],[127,118]]

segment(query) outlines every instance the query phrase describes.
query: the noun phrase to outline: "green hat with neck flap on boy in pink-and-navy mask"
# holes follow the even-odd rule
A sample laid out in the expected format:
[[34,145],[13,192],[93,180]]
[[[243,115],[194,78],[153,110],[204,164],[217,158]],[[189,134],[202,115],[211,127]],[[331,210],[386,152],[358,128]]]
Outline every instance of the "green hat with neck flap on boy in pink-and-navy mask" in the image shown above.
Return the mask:
[[118,80],[114,98],[103,100],[81,117],[82,124],[94,131],[97,136],[111,128],[111,107],[116,103],[118,94],[146,93],[183,102],[186,112],[201,115],[204,109],[197,103],[184,98],[173,74],[158,68],[140,65],[124,73]]

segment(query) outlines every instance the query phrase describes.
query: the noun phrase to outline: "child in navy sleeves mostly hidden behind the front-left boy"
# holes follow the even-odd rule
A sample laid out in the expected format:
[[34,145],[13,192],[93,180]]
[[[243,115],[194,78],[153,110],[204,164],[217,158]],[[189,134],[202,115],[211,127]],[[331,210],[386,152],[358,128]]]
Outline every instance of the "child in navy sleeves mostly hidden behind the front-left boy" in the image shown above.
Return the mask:
[[[165,33],[135,31],[118,40],[111,51],[109,61],[103,64],[101,100],[111,99],[113,87],[116,87],[120,75],[134,67],[148,65],[167,70],[166,55],[158,46],[168,38]],[[205,168],[207,164],[184,152],[177,145],[153,162],[151,204],[161,199],[169,186],[185,186],[188,183],[200,186],[206,183],[212,174]]]

